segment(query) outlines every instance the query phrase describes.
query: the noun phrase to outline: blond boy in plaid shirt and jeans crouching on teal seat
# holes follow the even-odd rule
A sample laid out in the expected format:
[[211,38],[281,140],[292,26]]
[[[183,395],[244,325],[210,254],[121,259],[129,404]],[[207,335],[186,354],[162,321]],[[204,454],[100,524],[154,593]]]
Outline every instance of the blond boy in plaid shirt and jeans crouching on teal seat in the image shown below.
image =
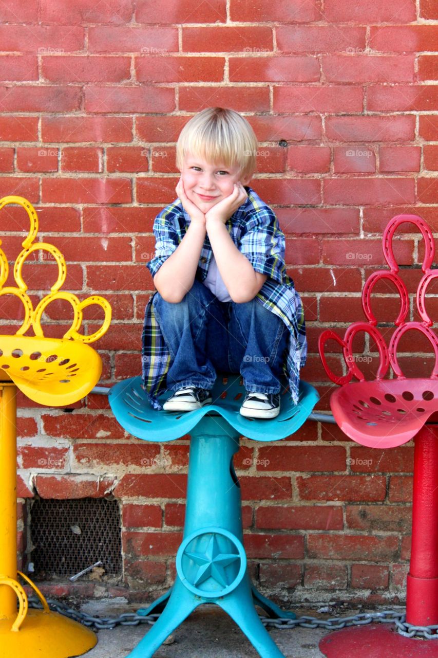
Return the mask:
[[155,219],[157,292],[145,310],[143,387],[155,409],[211,403],[216,372],[240,373],[240,413],[280,413],[281,373],[298,401],[305,363],[303,307],[286,274],[273,211],[248,186],[257,141],[249,122],[220,107],[196,114],[176,145],[178,199]]

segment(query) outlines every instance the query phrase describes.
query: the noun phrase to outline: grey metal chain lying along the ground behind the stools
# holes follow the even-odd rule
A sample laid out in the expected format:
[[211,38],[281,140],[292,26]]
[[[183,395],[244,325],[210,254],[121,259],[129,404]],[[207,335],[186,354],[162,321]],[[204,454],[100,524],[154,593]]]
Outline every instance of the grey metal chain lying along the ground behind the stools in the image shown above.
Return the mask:
[[[70,617],[84,626],[90,628],[112,630],[115,626],[137,626],[138,624],[155,624],[159,613],[154,615],[138,615],[137,613],[124,613],[118,617],[93,617],[87,613],[81,613],[74,610],[65,603],[47,599],[49,607],[65,617]],[[41,608],[41,603],[36,597],[30,597],[29,607]],[[385,610],[376,613],[358,613],[351,617],[331,617],[330,619],[316,619],[316,617],[303,616],[297,619],[287,619],[287,617],[260,617],[264,626],[274,626],[275,628],[326,628],[327,630],[339,630],[346,626],[364,626],[372,622],[381,622],[383,624],[395,624],[397,631],[405,638],[427,638],[427,640],[438,640],[438,624],[435,626],[414,626],[406,622],[406,615],[395,610]]]

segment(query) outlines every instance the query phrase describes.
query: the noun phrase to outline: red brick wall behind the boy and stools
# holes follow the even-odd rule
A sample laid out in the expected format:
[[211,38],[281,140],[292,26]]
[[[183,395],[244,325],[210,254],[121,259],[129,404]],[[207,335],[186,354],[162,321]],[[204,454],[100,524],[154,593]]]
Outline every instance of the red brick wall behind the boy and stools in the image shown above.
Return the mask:
[[[218,104],[244,113],[260,140],[253,186],[286,233],[287,265],[306,305],[304,378],[328,409],[322,328],[343,332],[362,317],[360,290],[383,263],[391,216],[414,212],[437,225],[437,3],[7,0],[0,21],[0,196],[36,205],[41,239],[69,263],[66,290],[112,303],[112,326],[97,343],[102,383],[139,374],[153,287],[145,262],[153,218],[175,197],[174,143],[188,116]],[[13,261],[27,218],[20,209],[1,216]],[[417,248],[418,234],[402,234],[401,263],[417,259]],[[51,286],[51,272],[42,259],[26,266],[34,298]],[[411,291],[416,282],[412,275]],[[384,292],[374,307],[379,321],[392,322],[398,301]],[[20,313],[1,302],[2,317]],[[68,305],[49,313],[49,333],[61,336]],[[413,359],[406,343],[410,372],[430,367],[429,348],[418,348]],[[18,495],[112,493],[123,508],[120,587],[141,596],[169,584],[187,438],[134,440],[97,395],[73,413],[20,396],[18,429]],[[244,440],[237,472],[262,590],[289,601],[402,597],[411,471],[412,445],[377,453],[327,424],[308,422],[281,445]],[[74,588],[93,592],[87,583]]]

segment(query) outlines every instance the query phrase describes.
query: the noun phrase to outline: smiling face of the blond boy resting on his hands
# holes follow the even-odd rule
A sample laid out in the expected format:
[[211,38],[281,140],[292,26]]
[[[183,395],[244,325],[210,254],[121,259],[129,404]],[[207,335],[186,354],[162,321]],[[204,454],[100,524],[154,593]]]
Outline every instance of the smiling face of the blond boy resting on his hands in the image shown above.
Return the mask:
[[239,166],[212,164],[189,153],[184,157],[181,178],[187,197],[203,213],[230,196],[235,183],[247,185],[250,180],[242,178]]

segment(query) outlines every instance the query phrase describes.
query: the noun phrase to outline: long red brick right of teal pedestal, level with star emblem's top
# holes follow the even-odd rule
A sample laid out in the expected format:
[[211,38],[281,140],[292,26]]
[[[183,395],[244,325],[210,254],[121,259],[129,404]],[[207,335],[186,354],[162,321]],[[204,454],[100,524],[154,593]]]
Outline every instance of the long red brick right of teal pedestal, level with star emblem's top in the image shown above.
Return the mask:
[[258,506],[256,528],[273,530],[342,530],[341,507],[305,505],[294,507]]

